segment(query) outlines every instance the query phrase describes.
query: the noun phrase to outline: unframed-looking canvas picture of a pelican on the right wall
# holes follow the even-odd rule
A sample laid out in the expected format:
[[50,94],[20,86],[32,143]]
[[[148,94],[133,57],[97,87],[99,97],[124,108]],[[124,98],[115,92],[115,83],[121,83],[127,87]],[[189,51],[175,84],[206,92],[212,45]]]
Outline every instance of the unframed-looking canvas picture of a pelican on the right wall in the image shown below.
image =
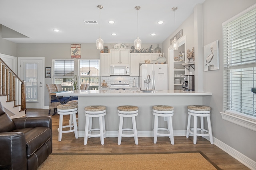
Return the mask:
[[204,71],[219,70],[219,41],[204,46]]

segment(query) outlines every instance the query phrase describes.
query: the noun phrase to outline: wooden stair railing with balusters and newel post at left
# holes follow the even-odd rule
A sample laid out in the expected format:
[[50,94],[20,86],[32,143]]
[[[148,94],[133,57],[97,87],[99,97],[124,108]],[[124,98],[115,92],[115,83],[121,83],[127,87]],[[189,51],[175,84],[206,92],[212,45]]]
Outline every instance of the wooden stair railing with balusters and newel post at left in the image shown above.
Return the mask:
[[14,102],[26,110],[26,86],[10,67],[0,58],[0,96],[6,96],[6,102]]

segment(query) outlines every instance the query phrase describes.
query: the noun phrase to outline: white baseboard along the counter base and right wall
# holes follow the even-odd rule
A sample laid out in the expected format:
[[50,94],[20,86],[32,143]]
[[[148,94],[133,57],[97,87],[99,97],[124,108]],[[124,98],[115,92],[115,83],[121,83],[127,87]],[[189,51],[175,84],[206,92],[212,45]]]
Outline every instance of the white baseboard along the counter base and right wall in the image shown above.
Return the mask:
[[[174,136],[186,136],[185,131],[173,131]],[[84,137],[84,131],[78,131],[78,137]],[[118,131],[106,131],[106,137],[118,137]],[[138,131],[138,137],[153,137],[153,131]],[[205,137],[208,141],[210,141],[209,137]],[[213,137],[214,145],[219,147],[220,149],[227,152],[230,156],[247,166],[252,170],[256,170],[256,162],[244,154],[238,152],[237,150],[233,149],[232,147],[226,145],[222,141]]]

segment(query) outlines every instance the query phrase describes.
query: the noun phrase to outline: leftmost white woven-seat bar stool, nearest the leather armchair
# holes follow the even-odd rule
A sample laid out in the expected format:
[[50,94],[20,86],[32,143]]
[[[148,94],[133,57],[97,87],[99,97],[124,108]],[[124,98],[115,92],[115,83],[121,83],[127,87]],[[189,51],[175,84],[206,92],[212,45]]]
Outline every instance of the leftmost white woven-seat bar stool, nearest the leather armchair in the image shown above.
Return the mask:
[[[66,125],[66,126],[62,125],[63,124],[63,115],[70,115],[70,117],[72,117],[72,119],[76,119],[76,113],[78,111],[78,106],[74,105],[74,104],[63,104],[63,105],[57,106],[57,109],[58,109],[57,113],[60,115],[60,123],[59,123],[59,128],[58,128],[58,132],[59,132],[58,141],[61,141],[62,133],[70,133],[70,132],[74,132],[76,139],[78,139],[78,131],[77,131],[76,121],[74,121],[73,125]],[[70,127],[70,130],[63,130],[66,127]]]

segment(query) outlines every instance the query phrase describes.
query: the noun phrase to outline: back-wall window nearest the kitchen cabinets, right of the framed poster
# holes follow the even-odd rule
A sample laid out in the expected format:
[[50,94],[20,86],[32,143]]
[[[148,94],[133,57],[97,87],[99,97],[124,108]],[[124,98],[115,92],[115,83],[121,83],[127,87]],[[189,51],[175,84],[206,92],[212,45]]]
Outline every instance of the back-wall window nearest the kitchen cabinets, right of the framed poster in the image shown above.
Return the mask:
[[79,60],[79,84],[89,83],[90,90],[98,90],[100,60]]

